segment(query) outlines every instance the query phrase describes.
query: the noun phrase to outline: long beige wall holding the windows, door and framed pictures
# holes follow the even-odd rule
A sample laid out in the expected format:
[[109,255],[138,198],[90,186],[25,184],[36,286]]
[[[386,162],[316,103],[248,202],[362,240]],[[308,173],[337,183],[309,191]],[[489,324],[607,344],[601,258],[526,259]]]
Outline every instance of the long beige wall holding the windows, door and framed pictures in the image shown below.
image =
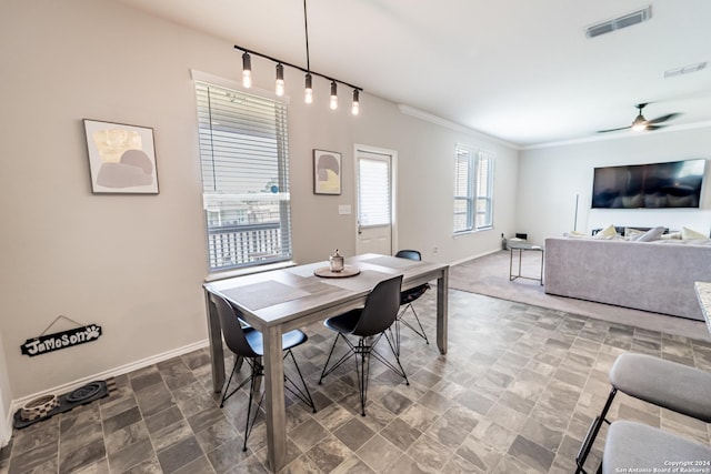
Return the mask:
[[[10,400],[128,370],[207,339],[190,70],[239,78],[240,60],[229,42],[102,0],[3,1],[0,53],[0,370],[7,366],[9,379],[0,381],[0,400],[7,413]],[[253,69],[256,87],[271,89],[273,64],[253,59]],[[296,261],[323,260],[334,246],[353,252],[354,215],[339,215],[338,204],[354,209],[354,143],[398,151],[398,246],[454,262],[495,250],[500,233],[513,231],[515,150],[405,115],[368,91],[358,118],[331,112],[326,102],[307,108],[301,74],[292,74]],[[153,128],[159,195],[91,193],[84,118]],[[497,154],[495,229],[453,239],[457,142]],[[313,148],[343,153],[342,195],[313,195]],[[441,249],[437,254],[434,246]],[[19,346],[58,315],[99,324],[103,335],[50,354],[21,355]],[[62,321],[50,332],[70,326]]]

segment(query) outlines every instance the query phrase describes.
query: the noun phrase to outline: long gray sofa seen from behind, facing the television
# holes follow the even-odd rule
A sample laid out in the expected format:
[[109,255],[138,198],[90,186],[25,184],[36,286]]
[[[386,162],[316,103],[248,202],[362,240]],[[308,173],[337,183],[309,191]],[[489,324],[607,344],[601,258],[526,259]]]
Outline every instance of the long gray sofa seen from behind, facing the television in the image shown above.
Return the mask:
[[703,321],[711,241],[545,239],[545,293]]

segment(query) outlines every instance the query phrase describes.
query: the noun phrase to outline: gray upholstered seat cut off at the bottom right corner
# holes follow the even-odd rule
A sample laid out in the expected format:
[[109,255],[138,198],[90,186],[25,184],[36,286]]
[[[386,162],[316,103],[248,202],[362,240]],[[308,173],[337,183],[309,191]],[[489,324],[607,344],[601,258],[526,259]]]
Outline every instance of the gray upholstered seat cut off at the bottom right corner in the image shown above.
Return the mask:
[[711,470],[711,447],[640,423],[610,425],[602,453],[602,474],[621,472],[698,472]]

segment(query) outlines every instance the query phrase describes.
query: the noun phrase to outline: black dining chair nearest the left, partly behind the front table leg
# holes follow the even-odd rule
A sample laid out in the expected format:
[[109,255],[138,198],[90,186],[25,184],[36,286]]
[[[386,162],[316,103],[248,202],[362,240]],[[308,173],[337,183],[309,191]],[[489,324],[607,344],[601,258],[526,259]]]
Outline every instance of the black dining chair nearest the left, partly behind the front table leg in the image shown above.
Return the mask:
[[[262,365],[261,360],[261,357],[264,355],[263,339],[262,334],[256,329],[249,325],[242,325],[238,317],[239,313],[222,296],[210,293],[210,300],[218,311],[224,342],[230,351],[232,351],[236,355],[234,366],[232,367],[230,377],[224,384],[222,400],[220,401],[220,407],[224,406],[224,401],[232,396],[238,390],[240,390],[248,383],[250,384],[249,402],[247,405],[247,422],[244,424],[244,445],[242,446],[242,451],[247,451],[247,438],[250,435],[252,426],[254,425],[254,421],[257,420],[257,415],[259,414],[259,409],[261,407],[262,401],[264,400],[264,394],[262,393],[259,399],[259,403],[257,404],[254,415],[250,420],[250,415],[252,412],[252,402],[254,400],[254,395],[259,391],[259,377],[264,375],[264,366]],[[291,357],[297,373],[299,374],[299,379],[301,379],[300,387],[284,373],[284,380],[288,382],[288,384],[284,384],[284,389],[287,389],[296,397],[311,407],[313,413],[316,413],[316,404],[313,403],[313,399],[311,399],[311,393],[309,392],[309,387],[303,380],[303,375],[301,375],[299,364],[297,364],[297,360],[291,352],[293,347],[303,344],[304,342],[307,342],[307,340],[308,336],[299,330],[289,331],[282,335],[281,344],[284,351],[284,359],[287,359],[287,356]],[[234,390],[229,392],[232,377],[237,372],[239,372],[242,360],[249,363],[251,367],[250,375],[249,377],[243,380]]]

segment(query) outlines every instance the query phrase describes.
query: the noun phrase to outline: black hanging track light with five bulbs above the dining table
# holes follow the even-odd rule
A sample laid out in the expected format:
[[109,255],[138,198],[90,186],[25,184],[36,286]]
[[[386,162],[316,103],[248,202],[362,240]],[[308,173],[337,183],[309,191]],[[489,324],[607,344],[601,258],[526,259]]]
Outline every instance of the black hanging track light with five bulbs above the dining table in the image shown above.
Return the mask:
[[310,63],[310,59],[309,59],[309,23],[307,21],[307,0],[303,0],[303,26],[304,26],[306,40],[307,40],[307,67],[306,67],[306,69],[301,68],[300,65],[296,65],[296,64],[291,64],[291,63],[289,63],[287,61],[282,61],[280,59],[269,57],[267,54],[261,54],[261,53],[256,52],[253,50],[247,50],[246,48],[242,48],[242,47],[236,44],[234,49],[243,51],[243,54],[242,54],[242,85],[246,87],[246,88],[250,88],[252,85],[252,61],[251,61],[250,54],[254,54],[254,56],[268,59],[268,60],[273,61],[273,62],[277,63],[277,81],[274,83],[274,91],[276,91],[277,95],[281,97],[281,95],[284,94],[284,65],[288,65],[290,68],[294,68],[294,69],[298,69],[300,71],[303,71],[307,74],[306,75],[306,88],[304,88],[304,92],[303,92],[303,100],[304,100],[306,103],[312,103],[313,102],[313,75],[318,75],[318,77],[323,78],[323,79],[326,79],[326,80],[331,82],[331,95],[330,95],[330,100],[329,100],[329,105],[333,110],[338,109],[338,93],[337,93],[338,83],[340,82],[341,84],[353,89],[353,103],[352,103],[352,107],[351,107],[351,112],[352,112],[353,115],[358,115],[358,112],[360,111],[359,97],[360,97],[360,91],[362,91],[361,88],[359,88],[357,85],[353,85],[353,84],[349,84],[348,82],[340,81],[340,80],[334,79],[334,78],[330,78],[328,75],[319,74],[318,72],[314,72],[314,71],[311,70],[311,63]]

